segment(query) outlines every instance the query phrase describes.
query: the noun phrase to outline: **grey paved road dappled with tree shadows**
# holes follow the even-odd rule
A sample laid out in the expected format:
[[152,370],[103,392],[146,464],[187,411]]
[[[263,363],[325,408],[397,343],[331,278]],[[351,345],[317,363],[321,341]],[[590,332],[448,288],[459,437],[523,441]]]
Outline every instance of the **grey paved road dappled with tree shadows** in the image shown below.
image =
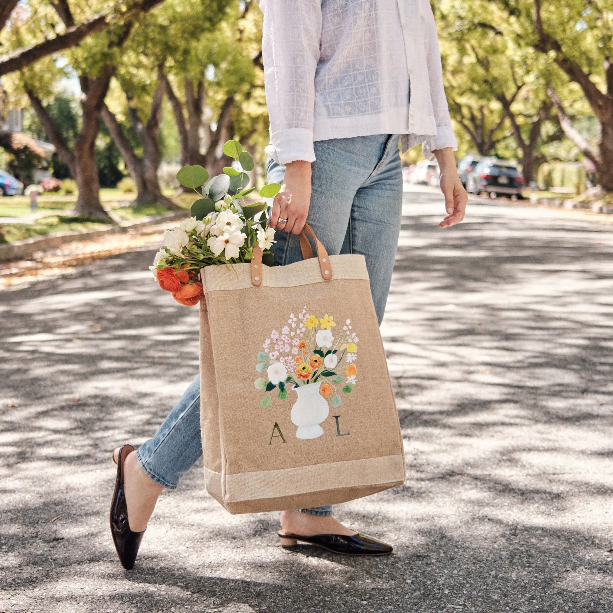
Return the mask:
[[0,611],[613,611],[610,226],[473,204],[443,231],[441,210],[406,194],[383,326],[408,479],[338,507],[392,557],[285,552],[276,513],[230,516],[195,467],[124,572],[110,450],[196,374],[196,310],[151,251],[2,292]]

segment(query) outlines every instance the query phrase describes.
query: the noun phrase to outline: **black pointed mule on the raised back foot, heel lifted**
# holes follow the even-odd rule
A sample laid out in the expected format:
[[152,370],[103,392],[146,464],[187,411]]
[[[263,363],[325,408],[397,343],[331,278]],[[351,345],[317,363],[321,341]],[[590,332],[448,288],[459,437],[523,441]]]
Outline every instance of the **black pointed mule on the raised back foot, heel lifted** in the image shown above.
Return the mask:
[[126,494],[123,490],[123,465],[128,454],[134,451],[132,445],[124,445],[120,448],[118,457],[113,453],[113,462],[117,465],[117,478],[115,479],[115,491],[111,501],[111,534],[121,566],[126,570],[134,568],[136,556],[139,553],[140,541],[143,539],[145,530],[133,532],[128,524],[128,506]]

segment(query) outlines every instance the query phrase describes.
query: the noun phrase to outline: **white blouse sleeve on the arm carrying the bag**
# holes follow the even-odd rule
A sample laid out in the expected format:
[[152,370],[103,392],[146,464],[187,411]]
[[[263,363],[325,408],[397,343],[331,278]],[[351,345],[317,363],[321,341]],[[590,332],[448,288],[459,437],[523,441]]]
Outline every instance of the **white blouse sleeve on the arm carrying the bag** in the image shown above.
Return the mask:
[[315,71],[321,0],[261,0],[264,88],[270,118],[267,153],[279,164],[313,162]]

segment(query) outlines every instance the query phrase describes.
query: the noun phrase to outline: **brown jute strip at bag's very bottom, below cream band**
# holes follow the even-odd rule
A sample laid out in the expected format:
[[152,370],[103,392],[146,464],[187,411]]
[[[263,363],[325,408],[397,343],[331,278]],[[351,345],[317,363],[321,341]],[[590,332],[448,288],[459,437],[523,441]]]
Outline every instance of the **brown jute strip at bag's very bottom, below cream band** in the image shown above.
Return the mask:
[[293,509],[306,509],[311,506],[323,506],[324,504],[340,504],[356,498],[364,498],[377,492],[389,490],[391,487],[402,485],[404,481],[393,483],[378,483],[375,485],[356,485],[354,487],[339,487],[333,490],[321,490],[282,496],[280,498],[260,498],[259,500],[245,500],[242,502],[224,503],[223,498],[216,493],[210,495],[232,515],[242,513],[264,513],[267,511],[292,511]]

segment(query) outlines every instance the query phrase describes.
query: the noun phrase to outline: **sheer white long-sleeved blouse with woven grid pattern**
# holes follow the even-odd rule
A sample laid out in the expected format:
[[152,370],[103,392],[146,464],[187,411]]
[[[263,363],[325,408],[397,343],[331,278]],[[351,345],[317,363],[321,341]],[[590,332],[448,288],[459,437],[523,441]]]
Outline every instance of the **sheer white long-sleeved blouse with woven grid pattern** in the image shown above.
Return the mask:
[[422,143],[430,159],[433,150],[457,149],[429,0],[260,6],[266,151],[276,162],[312,162],[314,140],[370,134],[402,135],[403,151]]

